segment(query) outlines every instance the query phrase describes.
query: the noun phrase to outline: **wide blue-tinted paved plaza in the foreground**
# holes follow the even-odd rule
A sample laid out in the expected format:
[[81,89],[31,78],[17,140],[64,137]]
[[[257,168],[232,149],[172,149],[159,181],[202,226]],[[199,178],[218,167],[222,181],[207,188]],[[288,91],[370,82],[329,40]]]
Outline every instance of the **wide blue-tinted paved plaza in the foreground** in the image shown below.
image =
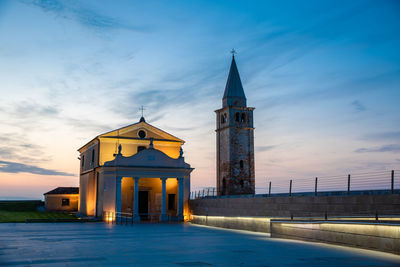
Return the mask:
[[0,224],[0,266],[398,266],[400,256],[191,224]]

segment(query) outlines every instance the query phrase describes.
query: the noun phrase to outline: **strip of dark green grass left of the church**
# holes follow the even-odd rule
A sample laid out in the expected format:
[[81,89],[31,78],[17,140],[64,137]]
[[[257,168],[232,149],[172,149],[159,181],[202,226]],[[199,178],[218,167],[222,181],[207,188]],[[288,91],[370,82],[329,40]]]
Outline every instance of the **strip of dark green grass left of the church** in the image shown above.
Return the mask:
[[73,214],[58,212],[0,210],[0,223],[25,222],[26,219],[76,219],[76,217]]

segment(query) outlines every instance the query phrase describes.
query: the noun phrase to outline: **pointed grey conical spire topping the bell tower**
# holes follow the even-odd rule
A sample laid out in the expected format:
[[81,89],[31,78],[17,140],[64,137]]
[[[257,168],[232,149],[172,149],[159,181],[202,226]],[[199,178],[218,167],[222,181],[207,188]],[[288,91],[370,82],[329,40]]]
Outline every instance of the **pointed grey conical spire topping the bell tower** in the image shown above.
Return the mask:
[[228,80],[226,81],[222,105],[246,107],[246,96],[244,94],[239,71],[235,62],[235,55],[232,53],[231,69],[229,70]]

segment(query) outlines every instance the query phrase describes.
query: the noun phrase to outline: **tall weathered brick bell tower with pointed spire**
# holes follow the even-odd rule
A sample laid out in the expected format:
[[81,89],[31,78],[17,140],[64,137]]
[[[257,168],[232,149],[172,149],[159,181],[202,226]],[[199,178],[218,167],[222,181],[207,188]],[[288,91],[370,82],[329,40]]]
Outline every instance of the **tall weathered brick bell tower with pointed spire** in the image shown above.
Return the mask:
[[253,110],[247,107],[234,50],[217,115],[218,195],[255,193]]

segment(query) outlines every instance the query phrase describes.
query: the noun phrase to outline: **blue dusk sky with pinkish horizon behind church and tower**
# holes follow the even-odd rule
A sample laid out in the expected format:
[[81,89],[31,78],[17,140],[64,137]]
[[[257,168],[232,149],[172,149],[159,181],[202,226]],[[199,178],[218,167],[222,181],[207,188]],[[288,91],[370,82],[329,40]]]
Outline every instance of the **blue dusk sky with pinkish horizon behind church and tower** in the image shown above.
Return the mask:
[[237,64],[266,179],[399,169],[398,1],[0,1],[0,196],[78,185],[76,151],[136,122],[184,139],[215,185]]

